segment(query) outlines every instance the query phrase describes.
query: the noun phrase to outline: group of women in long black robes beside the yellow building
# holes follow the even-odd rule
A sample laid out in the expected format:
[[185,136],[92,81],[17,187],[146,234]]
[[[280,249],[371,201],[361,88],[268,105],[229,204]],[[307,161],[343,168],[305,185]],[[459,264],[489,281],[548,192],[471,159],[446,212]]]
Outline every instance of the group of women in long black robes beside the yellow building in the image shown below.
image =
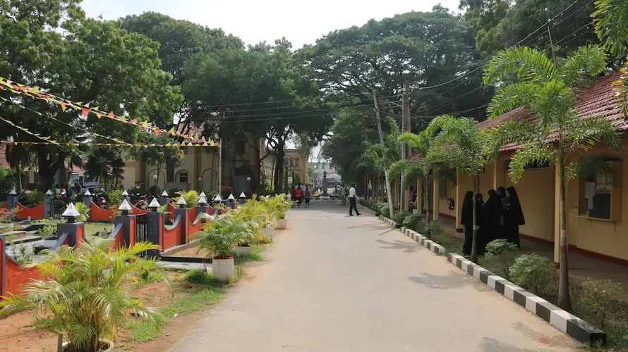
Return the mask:
[[[521,247],[519,226],[524,225],[524,212],[514,187],[499,187],[488,191],[486,202],[482,194],[476,194],[476,226],[478,227],[478,254],[495,239]],[[473,191],[467,191],[462,202],[461,225],[464,226],[464,255],[471,255],[473,246]]]

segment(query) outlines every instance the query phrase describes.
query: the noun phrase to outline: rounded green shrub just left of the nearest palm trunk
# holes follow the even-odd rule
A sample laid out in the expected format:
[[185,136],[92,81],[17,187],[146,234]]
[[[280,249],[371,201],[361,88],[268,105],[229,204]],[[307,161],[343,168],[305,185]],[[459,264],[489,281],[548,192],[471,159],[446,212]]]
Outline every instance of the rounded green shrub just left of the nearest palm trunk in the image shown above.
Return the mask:
[[515,284],[540,296],[552,284],[553,273],[554,263],[550,258],[532,253],[516,258],[509,276]]

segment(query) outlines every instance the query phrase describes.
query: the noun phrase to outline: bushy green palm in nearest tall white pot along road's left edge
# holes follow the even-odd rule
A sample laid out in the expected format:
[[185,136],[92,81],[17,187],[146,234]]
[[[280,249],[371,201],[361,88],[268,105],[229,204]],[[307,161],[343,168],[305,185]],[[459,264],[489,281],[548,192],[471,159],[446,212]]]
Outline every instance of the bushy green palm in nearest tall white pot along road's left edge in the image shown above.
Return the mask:
[[246,222],[236,220],[233,216],[219,216],[208,222],[198,237],[198,248],[207,249],[213,256],[212,268],[214,277],[222,282],[229,282],[234,276],[234,244],[248,237],[251,231]]

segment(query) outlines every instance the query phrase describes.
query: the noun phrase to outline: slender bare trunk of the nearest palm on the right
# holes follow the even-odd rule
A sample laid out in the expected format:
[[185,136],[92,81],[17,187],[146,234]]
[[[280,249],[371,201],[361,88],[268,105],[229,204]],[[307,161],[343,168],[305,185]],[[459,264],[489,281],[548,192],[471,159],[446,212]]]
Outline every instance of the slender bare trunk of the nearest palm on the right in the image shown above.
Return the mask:
[[564,310],[572,310],[572,299],[569,297],[569,247],[567,246],[567,206],[565,204],[564,155],[562,139],[559,141],[558,168],[560,177],[560,249],[558,275],[558,306]]

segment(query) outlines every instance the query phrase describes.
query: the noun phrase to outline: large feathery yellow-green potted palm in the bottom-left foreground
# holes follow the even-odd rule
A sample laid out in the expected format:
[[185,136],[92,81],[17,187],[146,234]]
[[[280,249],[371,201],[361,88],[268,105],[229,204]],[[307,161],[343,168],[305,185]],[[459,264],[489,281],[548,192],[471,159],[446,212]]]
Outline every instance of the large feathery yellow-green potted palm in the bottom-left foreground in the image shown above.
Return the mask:
[[62,246],[44,251],[44,261],[25,265],[37,268],[47,280],[33,280],[24,297],[3,297],[0,315],[32,310],[33,325],[64,337],[64,352],[111,352],[116,332],[128,321],[128,310],[159,329],[155,310],[131,298],[140,275],[157,270],[155,261],[139,253],[159,246],[143,242],[111,250],[111,239],[86,236],[79,248]]

